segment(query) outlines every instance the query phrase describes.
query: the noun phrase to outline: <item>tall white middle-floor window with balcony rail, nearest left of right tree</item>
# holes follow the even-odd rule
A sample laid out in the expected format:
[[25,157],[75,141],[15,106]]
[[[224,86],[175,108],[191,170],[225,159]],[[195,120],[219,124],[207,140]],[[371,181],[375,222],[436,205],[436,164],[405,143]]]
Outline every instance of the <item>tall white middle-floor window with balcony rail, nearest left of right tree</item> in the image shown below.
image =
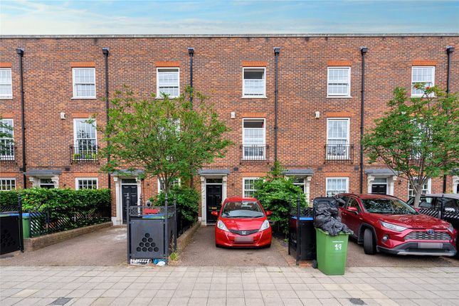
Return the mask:
[[327,159],[349,157],[349,118],[327,119]]

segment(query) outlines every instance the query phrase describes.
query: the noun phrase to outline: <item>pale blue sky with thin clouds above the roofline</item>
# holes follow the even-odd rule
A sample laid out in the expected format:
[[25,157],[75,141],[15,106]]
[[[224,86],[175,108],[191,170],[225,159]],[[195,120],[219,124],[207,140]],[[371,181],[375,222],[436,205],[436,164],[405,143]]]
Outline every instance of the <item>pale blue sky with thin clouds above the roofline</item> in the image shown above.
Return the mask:
[[419,32],[459,32],[459,0],[0,0],[2,35]]

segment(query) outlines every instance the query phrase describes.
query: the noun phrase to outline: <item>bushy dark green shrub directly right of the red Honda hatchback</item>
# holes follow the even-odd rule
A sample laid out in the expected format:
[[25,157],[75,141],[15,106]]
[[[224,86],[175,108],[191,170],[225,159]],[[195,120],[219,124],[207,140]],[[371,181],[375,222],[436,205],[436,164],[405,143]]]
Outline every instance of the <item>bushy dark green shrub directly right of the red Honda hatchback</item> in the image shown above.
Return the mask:
[[287,236],[290,218],[290,205],[296,208],[297,196],[300,196],[300,205],[306,206],[306,197],[302,190],[293,184],[293,179],[286,178],[284,169],[279,162],[274,163],[271,172],[262,180],[255,183],[253,195],[263,208],[272,211],[270,220],[274,221],[277,231]]

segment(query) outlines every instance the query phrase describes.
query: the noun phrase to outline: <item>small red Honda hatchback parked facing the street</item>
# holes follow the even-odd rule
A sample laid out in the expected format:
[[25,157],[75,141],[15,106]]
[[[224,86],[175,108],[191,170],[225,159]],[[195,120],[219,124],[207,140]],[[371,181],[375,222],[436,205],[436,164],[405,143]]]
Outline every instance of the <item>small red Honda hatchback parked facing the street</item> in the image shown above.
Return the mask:
[[223,201],[215,226],[215,245],[226,247],[270,247],[272,231],[265,211],[254,198],[228,198]]

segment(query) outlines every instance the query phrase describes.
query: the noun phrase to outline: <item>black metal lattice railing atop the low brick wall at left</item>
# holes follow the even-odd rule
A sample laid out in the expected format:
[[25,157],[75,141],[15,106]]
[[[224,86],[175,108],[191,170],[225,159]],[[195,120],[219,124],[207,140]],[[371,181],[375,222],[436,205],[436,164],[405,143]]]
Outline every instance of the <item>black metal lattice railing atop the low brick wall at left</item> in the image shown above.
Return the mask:
[[52,211],[31,211],[31,237],[68,231],[111,220],[110,206],[78,207],[78,211],[53,209]]

